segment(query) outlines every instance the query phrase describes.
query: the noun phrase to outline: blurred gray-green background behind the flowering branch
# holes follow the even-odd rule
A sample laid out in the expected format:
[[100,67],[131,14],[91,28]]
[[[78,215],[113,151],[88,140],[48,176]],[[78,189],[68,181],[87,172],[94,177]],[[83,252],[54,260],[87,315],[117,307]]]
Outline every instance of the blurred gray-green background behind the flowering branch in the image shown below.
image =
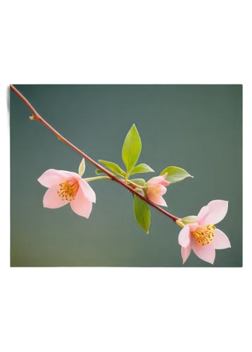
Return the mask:
[[[241,268],[243,265],[243,88],[241,84],[16,84],[58,132],[87,155],[123,167],[122,143],[133,123],[142,142],[139,163],[158,175],[175,165],[194,179],[170,185],[168,211],[196,215],[213,199],[229,201],[218,227],[232,248],[214,265],[193,252],[182,266],[180,228],[151,208],[145,234],[134,220],[132,195],[119,184],[92,182],[97,201],[89,220],[65,206],[43,208],[45,170],[77,172],[81,156],[30,121],[11,92],[11,267]],[[94,175],[87,163],[85,177]],[[144,175],[142,175],[144,177]],[[139,175],[141,177],[141,175]],[[153,177],[153,174],[146,174]]]

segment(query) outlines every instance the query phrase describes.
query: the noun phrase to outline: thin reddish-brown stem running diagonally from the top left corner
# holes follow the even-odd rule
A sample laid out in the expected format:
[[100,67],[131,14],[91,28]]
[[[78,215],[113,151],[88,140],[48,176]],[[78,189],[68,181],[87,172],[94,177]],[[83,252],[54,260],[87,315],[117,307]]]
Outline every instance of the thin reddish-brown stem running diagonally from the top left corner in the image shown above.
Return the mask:
[[23,94],[21,94],[18,89],[16,89],[12,83],[10,83],[10,88],[11,90],[17,94],[17,96],[19,96],[19,98],[25,103],[25,105],[30,108],[30,111],[32,111],[33,117],[31,118],[32,120],[39,120],[39,122],[41,122],[44,126],[46,126],[51,132],[53,132],[53,134],[55,134],[58,139],[60,139],[62,142],[64,142],[65,144],[67,144],[68,146],[70,146],[70,148],[72,148],[74,151],[77,151],[77,153],[79,153],[84,159],[86,159],[87,161],[89,161],[89,163],[92,163],[94,166],[96,166],[96,168],[99,168],[102,172],[104,172],[106,175],[108,175],[109,177],[111,177],[111,179],[115,182],[118,182],[119,184],[121,184],[122,187],[125,187],[128,191],[130,191],[132,194],[135,194],[136,196],[138,196],[139,198],[141,198],[143,201],[146,201],[146,203],[148,203],[150,206],[153,206],[153,208],[156,208],[158,211],[160,211],[160,213],[163,213],[164,215],[168,216],[168,218],[172,219],[173,221],[176,222],[177,216],[172,215],[170,213],[168,213],[168,211],[165,211],[163,208],[160,208],[160,206],[157,206],[155,203],[153,203],[152,201],[150,201],[148,198],[146,198],[145,196],[142,196],[141,194],[139,194],[138,191],[136,191],[135,189],[132,189],[132,187],[130,187],[128,184],[126,184],[124,181],[120,180],[118,177],[116,177],[115,175],[113,175],[112,172],[106,170],[106,168],[103,168],[103,166],[101,166],[99,163],[96,163],[96,161],[94,161],[92,158],[89,158],[89,156],[87,156],[85,153],[83,153],[83,151],[81,151],[80,149],[78,149],[76,146],[74,146],[72,143],[68,142],[68,139],[65,139],[61,134],[59,134],[56,130],[54,130],[53,127],[51,127],[51,125],[49,125],[48,122],[46,122],[38,113],[37,111],[33,108],[32,104],[29,103],[29,101],[27,101],[27,99],[25,99],[25,96],[23,96]]

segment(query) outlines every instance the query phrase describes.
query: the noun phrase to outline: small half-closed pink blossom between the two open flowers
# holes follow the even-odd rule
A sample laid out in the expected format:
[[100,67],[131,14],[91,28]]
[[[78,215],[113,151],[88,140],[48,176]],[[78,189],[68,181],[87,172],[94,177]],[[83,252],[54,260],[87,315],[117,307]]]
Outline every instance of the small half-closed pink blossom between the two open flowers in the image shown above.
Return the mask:
[[165,187],[170,184],[170,182],[165,181],[167,175],[166,173],[162,176],[152,177],[145,185],[148,198],[158,206],[167,206],[165,199],[163,199],[163,194],[167,191]]

